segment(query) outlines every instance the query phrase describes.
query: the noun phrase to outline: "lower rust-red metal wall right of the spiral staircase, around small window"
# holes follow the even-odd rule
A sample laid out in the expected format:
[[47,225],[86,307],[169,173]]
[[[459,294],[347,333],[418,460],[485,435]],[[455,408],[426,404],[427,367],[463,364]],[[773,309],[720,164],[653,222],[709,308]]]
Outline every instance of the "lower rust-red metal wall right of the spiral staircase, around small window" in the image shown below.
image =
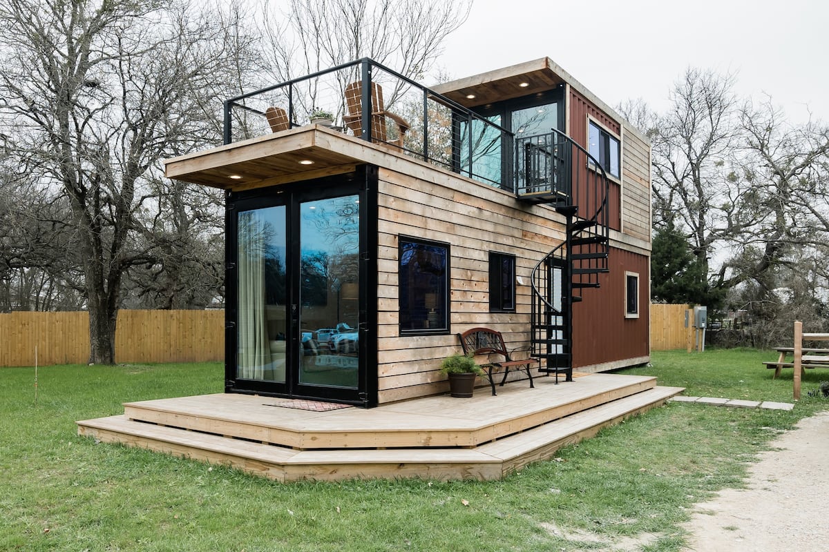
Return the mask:
[[[601,287],[574,290],[583,300],[573,305],[573,367],[649,354],[648,258],[611,248],[608,266]],[[625,318],[625,271],[639,275],[639,318]]]

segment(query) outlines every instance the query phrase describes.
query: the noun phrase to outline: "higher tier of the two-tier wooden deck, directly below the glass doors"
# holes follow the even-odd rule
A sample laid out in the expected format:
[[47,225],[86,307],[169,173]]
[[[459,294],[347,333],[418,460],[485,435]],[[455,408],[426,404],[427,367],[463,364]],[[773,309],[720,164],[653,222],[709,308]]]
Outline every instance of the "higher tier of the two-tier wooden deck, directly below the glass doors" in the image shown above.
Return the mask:
[[[512,382],[510,385],[522,384]],[[635,381],[623,381],[620,384],[608,380],[607,385],[602,388],[584,393],[579,393],[574,387],[562,386],[561,394],[568,396],[553,405],[547,405],[545,401],[528,401],[493,420],[478,417],[477,411],[489,408],[500,410],[501,405],[509,403],[509,399],[476,396],[474,402],[458,405],[464,408],[473,407],[473,411],[454,411],[450,414],[453,418],[451,423],[445,420],[447,412],[440,411],[445,409],[442,406],[445,403],[436,405],[433,409],[436,412],[424,417],[422,423],[417,423],[413,419],[409,424],[397,425],[388,420],[377,421],[371,410],[331,410],[308,415],[295,410],[268,406],[275,402],[268,397],[257,397],[255,402],[251,402],[250,396],[240,396],[238,406],[230,397],[217,396],[217,401],[230,401],[224,408],[192,404],[187,400],[189,397],[181,400],[127,403],[124,405],[124,415],[130,420],[302,450],[473,447],[573,415],[581,410],[616,401],[624,396],[647,391],[655,385],[655,378],[637,378]],[[531,397],[531,394],[527,396]],[[405,416],[407,403],[385,408],[393,415]],[[344,418],[347,420],[340,425],[331,423],[332,419]]]

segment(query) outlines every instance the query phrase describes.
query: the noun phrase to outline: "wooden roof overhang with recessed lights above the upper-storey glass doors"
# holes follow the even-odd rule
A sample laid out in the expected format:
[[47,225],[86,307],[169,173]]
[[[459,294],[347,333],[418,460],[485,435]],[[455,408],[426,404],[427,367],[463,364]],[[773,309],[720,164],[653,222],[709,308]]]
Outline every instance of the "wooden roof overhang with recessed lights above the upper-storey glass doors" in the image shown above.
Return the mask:
[[464,107],[475,108],[555,89],[564,84],[568,80],[567,77],[564,70],[555,65],[550,58],[541,58],[438,84],[432,89]]

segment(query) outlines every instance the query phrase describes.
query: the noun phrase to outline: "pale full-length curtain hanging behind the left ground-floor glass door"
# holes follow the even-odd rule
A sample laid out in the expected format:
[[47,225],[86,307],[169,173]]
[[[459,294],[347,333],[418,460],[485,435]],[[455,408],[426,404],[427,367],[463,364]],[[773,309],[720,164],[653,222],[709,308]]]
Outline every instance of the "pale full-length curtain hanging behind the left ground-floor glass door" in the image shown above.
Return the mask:
[[237,266],[239,305],[236,377],[265,379],[272,368],[265,316],[264,252],[268,232],[257,211],[239,214]]

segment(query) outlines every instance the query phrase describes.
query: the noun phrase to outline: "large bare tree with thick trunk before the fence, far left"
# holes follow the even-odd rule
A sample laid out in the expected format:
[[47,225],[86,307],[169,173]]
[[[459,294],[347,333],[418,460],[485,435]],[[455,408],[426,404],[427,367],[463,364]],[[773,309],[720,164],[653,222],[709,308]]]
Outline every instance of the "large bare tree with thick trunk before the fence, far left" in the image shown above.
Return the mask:
[[[114,362],[120,289],[151,260],[136,239],[159,161],[216,142],[234,34],[156,0],[0,6],[0,109],[10,156],[70,202],[90,311],[90,362]],[[227,79],[233,82],[233,79]]]

